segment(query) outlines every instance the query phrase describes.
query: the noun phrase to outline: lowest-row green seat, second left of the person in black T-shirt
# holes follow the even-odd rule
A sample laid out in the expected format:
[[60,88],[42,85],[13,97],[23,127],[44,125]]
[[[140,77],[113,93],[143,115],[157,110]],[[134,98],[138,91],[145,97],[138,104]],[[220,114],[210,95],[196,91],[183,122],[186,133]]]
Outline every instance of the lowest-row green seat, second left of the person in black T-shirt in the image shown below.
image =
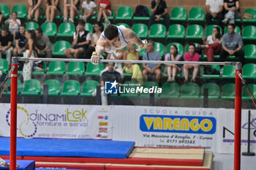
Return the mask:
[[80,84],[76,80],[67,80],[64,82],[61,96],[78,96],[80,92]]

